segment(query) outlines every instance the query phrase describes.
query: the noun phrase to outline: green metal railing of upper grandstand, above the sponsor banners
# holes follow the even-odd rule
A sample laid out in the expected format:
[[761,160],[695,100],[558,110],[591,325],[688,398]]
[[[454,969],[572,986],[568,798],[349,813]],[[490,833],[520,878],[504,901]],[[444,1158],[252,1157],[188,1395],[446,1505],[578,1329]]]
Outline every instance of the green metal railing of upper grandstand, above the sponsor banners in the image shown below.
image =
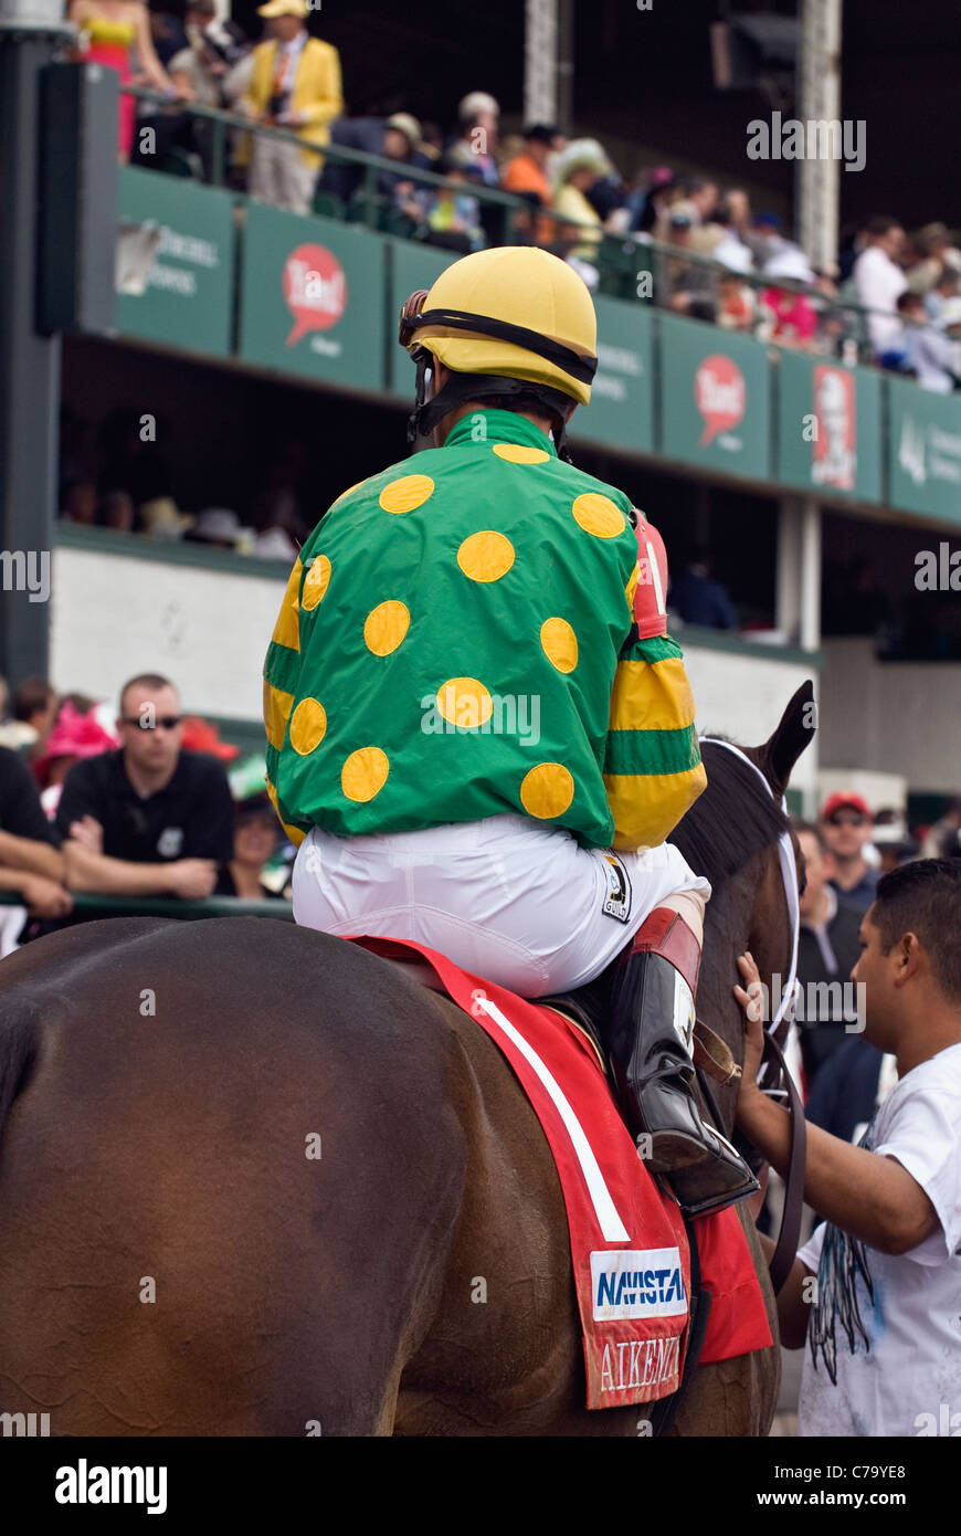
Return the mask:
[[[717,286],[723,280],[731,278],[737,278],[755,292],[777,287],[781,292],[807,298],[818,313],[818,318],[824,316],[824,313],[831,313],[832,323],[838,327],[834,336],[834,341],[837,343],[837,353],[841,355],[846,362],[869,362],[872,359],[869,339],[869,321],[872,315],[883,315],[887,321],[892,319],[889,312],[867,309],[855,300],[843,295],[826,295],[807,283],[798,283],[789,278],[772,278],[763,272],[734,272],[723,263],[714,261],[711,257],[702,255],[695,250],[679,249],[677,246],[663,244],[634,232],[613,233],[599,224],[579,224],[576,220],[557,214],[553,209],[534,206],[523,197],[504,192],[499,187],[488,187],[480,181],[451,181],[448,177],[439,175],[436,170],[427,170],[425,167],[411,166],[407,161],[390,160],[382,155],[370,155],[364,151],[348,149],[342,144],[312,144],[295,129],[267,126],[241,114],[224,112],[218,108],[207,108],[193,101],[172,101],[170,97],[144,86],[123,86],[123,91],[135,97],[140,103],[154,104],[161,115],[187,117],[196,120],[201,126],[206,124],[206,163],[203,169],[204,180],[209,174],[209,186],[223,187],[227,184],[227,146],[230,134],[266,134],[276,140],[296,144],[298,149],[307,149],[318,154],[322,160],[359,166],[364,172],[364,178],[361,189],[352,197],[350,203],[342,204],[333,194],[318,190],[318,194],[315,194],[313,210],[315,214],[322,214],[325,217],[364,224],[368,229],[379,230],[381,233],[395,233],[411,240],[422,240],[425,244],[441,244],[439,241],[431,240],[436,232],[428,227],[427,217],[424,217],[421,223],[405,218],[401,210],[393,207],[393,200],[385,198],[379,192],[378,178],[385,172],[393,178],[411,181],[419,189],[430,190],[439,187],[456,192],[461,197],[473,198],[482,209],[480,218],[487,244],[540,244],[540,241],[534,240],[537,229],[543,230],[545,224],[551,224],[556,238],[551,241],[548,249],[556,250],[557,255],[589,250],[591,255],[586,257],[586,260],[589,260],[599,272],[597,292],[611,298],[632,300],[634,303],[652,303],[659,309],[671,309],[671,273],[677,273],[679,269],[685,267],[708,269],[711,276],[711,292],[705,295],[708,300],[715,300]],[[141,117],[138,120],[138,131],[149,126],[149,118],[144,120]],[[144,161],[137,161],[137,164],[144,167]],[[173,160],[164,161],[157,169],[167,169],[180,175],[193,175],[190,161],[184,158],[183,151],[178,151],[173,155]],[[232,187],[230,190],[235,192],[238,201],[246,200],[247,197],[247,194],[238,187]],[[456,255],[462,252],[453,253]],[[645,286],[640,280],[648,273],[651,276],[652,290],[649,296],[639,292],[639,287]],[[717,321],[712,323],[717,324]],[[751,327],[740,329],[745,335],[760,333],[761,339],[771,339],[775,346],[781,346],[783,343],[778,338],[763,335],[766,324],[769,324],[769,316],[765,315],[761,306],[757,306],[754,324]],[[718,329],[725,327],[722,326]]]

